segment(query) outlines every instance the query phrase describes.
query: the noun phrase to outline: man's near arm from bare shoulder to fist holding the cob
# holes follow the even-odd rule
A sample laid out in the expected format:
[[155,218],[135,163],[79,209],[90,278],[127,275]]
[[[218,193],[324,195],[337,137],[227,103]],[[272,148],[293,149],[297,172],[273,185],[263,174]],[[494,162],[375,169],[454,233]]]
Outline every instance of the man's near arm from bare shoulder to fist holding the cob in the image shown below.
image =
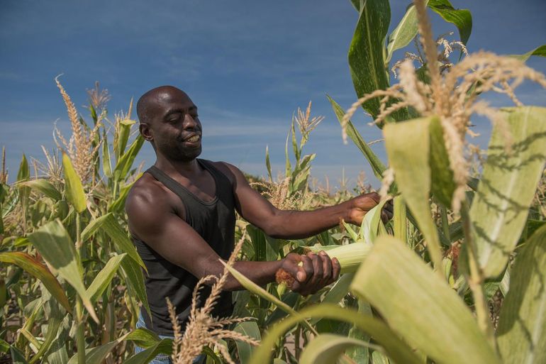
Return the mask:
[[[129,226],[140,239],[169,262],[184,268],[195,277],[220,276],[223,265],[220,257],[194,231],[191,226],[172,211],[164,193],[152,187],[135,187],[126,203]],[[299,258],[296,258],[299,257]],[[303,266],[299,260],[303,258]],[[324,285],[337,280],[339,264],[333,265],[324,255],[287,255],[274,262],[236,262],[234,268],[257,285],[274,281],[279,268],[290,272],[296,279],[294,291],[311,294]],[[224,285],[226,290],[243,289],[231,275]]]

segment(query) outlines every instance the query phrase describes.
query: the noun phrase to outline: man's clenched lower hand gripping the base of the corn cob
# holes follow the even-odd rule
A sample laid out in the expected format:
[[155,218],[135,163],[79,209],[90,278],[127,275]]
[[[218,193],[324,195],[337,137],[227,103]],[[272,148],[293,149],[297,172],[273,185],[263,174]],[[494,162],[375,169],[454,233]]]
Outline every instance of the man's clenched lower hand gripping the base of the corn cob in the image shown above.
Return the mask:
[[325,251],[321,251],[306,255],[289,253],[283,259],[281,269],[294,277],[291,289],[307,296],[338,280],[341,267],[338,259],[330,259]]

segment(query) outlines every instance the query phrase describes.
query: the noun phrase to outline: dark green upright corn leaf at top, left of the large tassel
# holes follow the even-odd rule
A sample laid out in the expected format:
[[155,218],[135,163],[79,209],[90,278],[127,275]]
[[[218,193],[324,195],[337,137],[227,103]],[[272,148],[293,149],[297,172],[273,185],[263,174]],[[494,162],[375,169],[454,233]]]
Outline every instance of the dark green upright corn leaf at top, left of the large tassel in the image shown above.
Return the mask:
[[[389,87],[385,70],[384,43],[389,30],[391,8],[388,0],[366,1],[360,9],[355,34],[349,47],[349,67],[352,83],[358,97],[377,89]],[[379,114],[379,99],[362,104],[364,110],[376,118]]]

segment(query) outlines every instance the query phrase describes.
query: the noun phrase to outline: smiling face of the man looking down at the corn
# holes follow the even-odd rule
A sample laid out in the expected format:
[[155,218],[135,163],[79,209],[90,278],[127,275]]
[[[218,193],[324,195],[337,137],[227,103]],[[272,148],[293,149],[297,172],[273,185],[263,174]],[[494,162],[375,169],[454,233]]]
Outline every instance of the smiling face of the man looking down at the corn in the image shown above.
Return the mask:
[[183,162],[197,158],[201,154],[197,106],[186,93],[175,88],[159,92],[154,101],[147,131],[152,138],[147,140],[153,141],[156,153]]

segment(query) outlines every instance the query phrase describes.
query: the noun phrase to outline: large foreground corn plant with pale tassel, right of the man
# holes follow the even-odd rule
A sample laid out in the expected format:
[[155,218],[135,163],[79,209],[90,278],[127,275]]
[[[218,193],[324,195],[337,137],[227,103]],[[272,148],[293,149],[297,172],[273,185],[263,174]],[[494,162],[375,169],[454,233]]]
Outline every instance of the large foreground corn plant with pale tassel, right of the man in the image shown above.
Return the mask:
[[[313,307],[294,310],[233,271],[245,287],[288,314],[269,326],[250,363],[271,360],[272,348],[277,348],[276,363],[282,363],[279,338],[300,326],[314,337],[299,358],[285,355],[286,361],[544,362],[546,226],[533,212],[542,209],[540,199],[537,204],[533,198],[537,186],[540,194],[546,160],[546,109],[523,106],[513,92],[523,79],[546,87],[545,77],[521,62],[543,54],[543,46],[519,57],[478,53],[447,66],[437,53],[425,1],[407,9],[388,43],[388,1],[353,4],[360,18],[349,62],[360,99],[347,114],[330,102],[344,135],[382,180],[381,191],[394,196],[394,221],[387,227],[371,225],[377,216],[371,211],[360,231],[347,229],[355,241],[351,245],[367,236],[373,248],[362,253],[354,275],[343,275]],[[465,52],[469,12],[453,9],[448,1],[428,1],[428,6],[457,25]],[[415,70],[411,60],[398,62],[400,82],[391,86],[392,53],[418,31],[424,53],[420,68]],[[516,106],[496,110],[479,101],[491,89],[507,94]],[[389,167],[349,120],[360,106],[383,128]],[[478,180],[469,177],[463,155],[474,114],[494,123]],[[533,219],[528,219],[530,209]],[[347,291],[357,297],[354,307],[346,305]],[[499,292],[503,304],[494,322],[490,304]],[[318,330],[318,323],[328,321],[335,324]],[[342,322],[350,331],[340,332]]]

